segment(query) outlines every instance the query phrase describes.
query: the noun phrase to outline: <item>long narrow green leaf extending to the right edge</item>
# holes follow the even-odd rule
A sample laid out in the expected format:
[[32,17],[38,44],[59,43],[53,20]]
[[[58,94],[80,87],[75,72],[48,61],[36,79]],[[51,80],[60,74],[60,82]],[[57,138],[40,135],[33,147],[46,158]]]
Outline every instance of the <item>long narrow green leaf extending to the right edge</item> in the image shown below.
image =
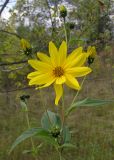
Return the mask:
[[97,106],[103,106],[106,104],[113,103],[114,100],[101,100],[101,99],[91,99],[91,98],[85,98],[84,100],[75,102],[71,107],[69,107],[66,111],[66,116],[73,110],[75,110],[77,107],[97,107]]

